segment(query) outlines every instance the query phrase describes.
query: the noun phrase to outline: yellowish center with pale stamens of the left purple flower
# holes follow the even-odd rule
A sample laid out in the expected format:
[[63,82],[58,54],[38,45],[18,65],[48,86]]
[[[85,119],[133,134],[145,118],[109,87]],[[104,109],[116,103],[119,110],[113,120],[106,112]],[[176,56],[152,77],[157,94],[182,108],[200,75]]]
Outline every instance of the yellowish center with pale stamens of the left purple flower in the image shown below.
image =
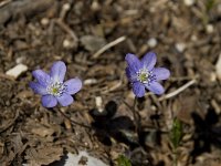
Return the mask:
[[54,82],[46,87],[49,94],[54,96],[61,96],[66,91],[66,85],[61,82]]

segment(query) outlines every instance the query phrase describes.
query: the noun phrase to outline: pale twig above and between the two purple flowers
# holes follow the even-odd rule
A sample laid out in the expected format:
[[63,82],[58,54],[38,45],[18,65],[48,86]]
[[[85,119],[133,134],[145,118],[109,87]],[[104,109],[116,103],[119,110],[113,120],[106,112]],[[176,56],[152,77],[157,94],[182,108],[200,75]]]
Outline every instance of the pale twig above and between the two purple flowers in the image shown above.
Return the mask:
[[102,49],[99,49],[95,54],[92,55],[92,59],[97,59],[102,53],[104,53],[106,50],[108,50],[109,48],[123,42],[126,40],[126,37],[120,37],[114,41],[112,41],[110,43],[104,45]]

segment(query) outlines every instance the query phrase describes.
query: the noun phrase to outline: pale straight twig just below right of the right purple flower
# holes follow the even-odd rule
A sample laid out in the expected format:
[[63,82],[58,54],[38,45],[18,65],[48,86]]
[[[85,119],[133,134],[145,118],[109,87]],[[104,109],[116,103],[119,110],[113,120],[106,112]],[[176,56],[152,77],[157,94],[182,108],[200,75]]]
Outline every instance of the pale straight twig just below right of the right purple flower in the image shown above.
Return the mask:
[[181,93],[182,91],[185,91],[186,89],[188,89],[189,86],[191,86],[192,84],[194,84],[197,81],[196,80],[191,80],[188,83],[186,83],[185,85],[182,85],[181,87],[177,89],[176,91],[166,94],[165,96],[161,96],[159,98],[159,101],[164,101],[164,100],[168,100],[171,98],[176,95],[178,95],[179,93]]

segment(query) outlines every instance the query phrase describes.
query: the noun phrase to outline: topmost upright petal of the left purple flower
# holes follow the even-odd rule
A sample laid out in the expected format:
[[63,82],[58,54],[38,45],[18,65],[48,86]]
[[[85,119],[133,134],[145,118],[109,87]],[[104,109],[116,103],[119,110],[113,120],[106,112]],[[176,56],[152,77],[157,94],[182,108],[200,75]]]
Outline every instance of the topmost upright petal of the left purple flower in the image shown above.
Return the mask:
[[57,61],[52,65],[50,75],[55,82],[63,82],[65,73],[66,65],[64,64],[64,62]]

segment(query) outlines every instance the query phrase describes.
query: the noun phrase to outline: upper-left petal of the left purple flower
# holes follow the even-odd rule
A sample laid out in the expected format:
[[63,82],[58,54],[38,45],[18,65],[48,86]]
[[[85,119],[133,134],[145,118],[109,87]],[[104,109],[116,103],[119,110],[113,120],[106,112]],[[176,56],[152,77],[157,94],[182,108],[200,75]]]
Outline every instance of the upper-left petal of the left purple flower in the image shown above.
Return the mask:
[[42,70],[35,70],[32,72],[32,75],[38,80],[38,82],[43,85],[48,86],[50,82],[50,75]]

